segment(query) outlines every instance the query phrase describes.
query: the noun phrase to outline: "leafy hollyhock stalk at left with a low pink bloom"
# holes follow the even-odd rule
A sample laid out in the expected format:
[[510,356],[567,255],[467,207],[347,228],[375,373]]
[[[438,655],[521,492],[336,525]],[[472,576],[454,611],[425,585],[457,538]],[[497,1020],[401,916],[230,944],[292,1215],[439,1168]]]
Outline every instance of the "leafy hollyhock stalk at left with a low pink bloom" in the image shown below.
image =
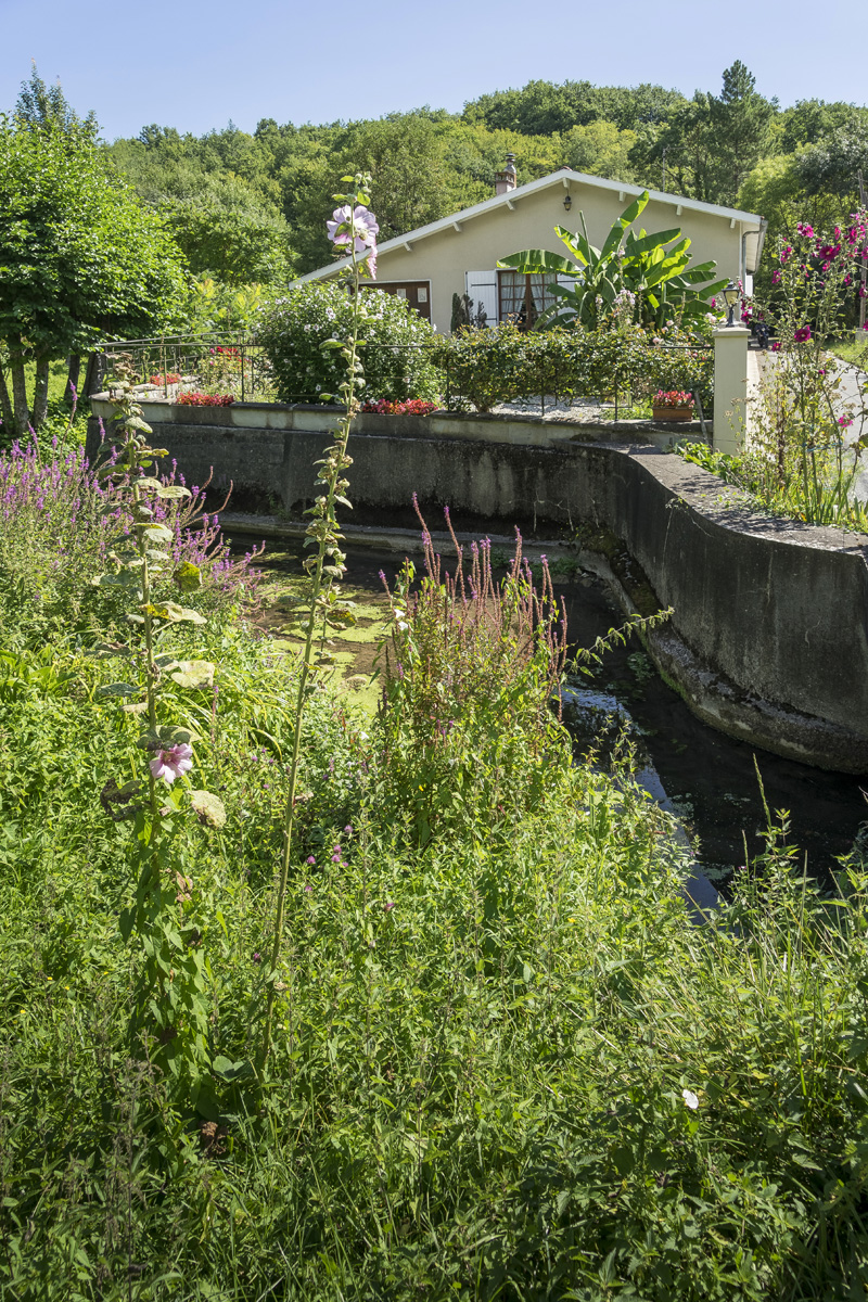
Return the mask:
[[164,710],[167,706],[172,710],[173,684],[212,686],[215,664],[178,660],[161,651],[167,633],[177,625],[206,622],[197,611],[163,595],[169,582],[181,594],[202,585],[199,566],[191,561],[173,562],[167,546],[174,542],[174,535],[154,517],[156,500],[189,499],[190,490],[165,484],[147,473],[167,453],[147,443],[151,428],[134,400],[129,359],[121,354],[115,361],[116,374],[109,384],[115,417],[109,435],[120,441],[120,449],[99,477],[115,488],[103,509],[115,514],[118,499],[126,499],[131,525],[113,539],[108,553],[112,568],[92,582],[118,591],[131,603],[128,622],[142,643],[99,643],[94,654],[125,660],[134,671],[130,677],[137,676],[135,668],[141,665],[143,681],[107,684],[100,695],[126,702],[122,706],[126,713],[146,720],[137,745],[152,758],[144,781],[133,779],[118,785],[111,780],[100,799],[112,819],[134,825],[135,900],[120,918],[124,939],[129,941],[135,935],[139,950],[130,1044],[168,1074],[176,1103],[189,1107],[199,1103],[203,1094],[207,1096],[212,1052],[202,922],[197,917],[198,891],[189,875],[183,818],[198,818],[220,828],[225,811],[211,792],[187,792],[186,783],[173,785],[193,768],[194,733],[165,721]]

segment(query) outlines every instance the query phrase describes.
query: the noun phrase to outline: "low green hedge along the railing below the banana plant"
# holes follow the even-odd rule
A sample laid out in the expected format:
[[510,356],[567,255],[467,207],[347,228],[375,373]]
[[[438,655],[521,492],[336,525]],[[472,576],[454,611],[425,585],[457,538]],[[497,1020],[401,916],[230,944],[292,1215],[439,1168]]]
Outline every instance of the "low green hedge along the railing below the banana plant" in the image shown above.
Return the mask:
[[455,409],[491,411],[540,393],[608,397],[630,391],[642,397],[661,388],[699,388],[703,404],[711,402],[708,340],[673,324],[653,332],[638,326],[526,332],[506,323],[439,337],[431,357],[448,379]]

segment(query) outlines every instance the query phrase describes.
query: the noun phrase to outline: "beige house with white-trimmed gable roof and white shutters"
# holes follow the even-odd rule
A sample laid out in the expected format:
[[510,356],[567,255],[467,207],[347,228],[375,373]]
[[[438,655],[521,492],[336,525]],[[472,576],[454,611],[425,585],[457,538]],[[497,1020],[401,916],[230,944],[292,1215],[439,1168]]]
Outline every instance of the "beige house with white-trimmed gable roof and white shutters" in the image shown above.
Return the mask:
[[[575,229],[579,210],[591,243],[600,247],[612,223],[642,191],[638,185],[604,181],[570,168],[515,185],[515,165],[508,155],[506,168],[496,173],[491,199],[379,246],[376,288],[406,298],[439,331],[452,327],[453,294],[466,293],[474,303],[481,303],[488,326],[515,319],[522,305],[531,301],[539,311],[553,302],[554,296],[547,293],[547,281],[553,277],[498,271],[498,259],[522,249],[565,254],[554,227]],[[640,227],[649,233],[679,227],[692,241],[695,263],[713,258],[718,277],[740,279],[751,290],[765,236],[763,217],[652,190],[636,223]],[[297,284],[327,280],[349,262],[319,267]]]

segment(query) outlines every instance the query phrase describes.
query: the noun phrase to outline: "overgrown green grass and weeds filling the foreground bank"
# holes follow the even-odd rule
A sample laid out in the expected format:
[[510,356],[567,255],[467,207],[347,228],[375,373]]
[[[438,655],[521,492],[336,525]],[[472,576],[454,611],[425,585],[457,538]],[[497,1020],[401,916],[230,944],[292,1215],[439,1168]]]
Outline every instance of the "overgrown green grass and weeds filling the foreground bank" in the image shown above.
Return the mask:
[[868,875],[854,858],[820,896],[770,815],[731,905],[691,926],[669,815],[626,769],[573,763],[550,589],[522,565],[493,586],[485,557],[462,579],[429,556],[398,589],[377,720],[311,684],[258,1091],[298,665],[232,617],[178,631],[178,655],[220,651],[215,689],[178,698],[226,809],[189,854],[210,1116],[178,1117],[126,1042],[133,883],[99,792],[138,725],[99,695],[113,671],[21,604],[0,656],[4,1297],[864,1294]]

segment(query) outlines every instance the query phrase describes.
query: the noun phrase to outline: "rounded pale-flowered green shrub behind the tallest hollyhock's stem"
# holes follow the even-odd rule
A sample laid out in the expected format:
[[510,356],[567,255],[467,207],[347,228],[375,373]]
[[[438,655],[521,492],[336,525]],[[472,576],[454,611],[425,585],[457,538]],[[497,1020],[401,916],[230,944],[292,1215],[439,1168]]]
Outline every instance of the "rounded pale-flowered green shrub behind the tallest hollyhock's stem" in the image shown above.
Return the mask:
[[[439,378],[427,346],[431,326],[403,299],[363,290],[366,298],[363,401],[433,398]],[[271,362],[281,402],[318,402],[342,381],[342,358],[324,352],[329,340],[347,340],[354,299],[342,285],[305,284],[263,311],[258,340]],[[397,346],[394,346],[397,345]]]

